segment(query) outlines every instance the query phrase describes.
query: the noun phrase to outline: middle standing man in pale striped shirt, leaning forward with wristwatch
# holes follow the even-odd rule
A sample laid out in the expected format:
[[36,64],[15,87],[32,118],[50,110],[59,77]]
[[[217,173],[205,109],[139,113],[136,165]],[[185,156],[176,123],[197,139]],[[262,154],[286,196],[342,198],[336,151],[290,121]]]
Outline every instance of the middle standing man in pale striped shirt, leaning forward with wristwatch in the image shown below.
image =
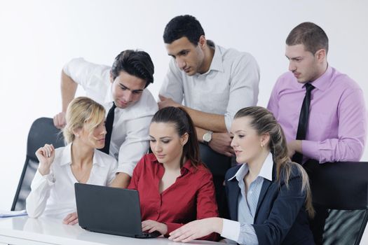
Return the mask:
[[200,22],[191,15],[170,20],[163,41],[172,60],[158,107],[182,106],[193,119],[202,143],[200,155],[213,174],[219,214],[224,217],[224,176],[233,155],[228,132],[239,109],[257,104],[259,66],[247,52],[206,40]]

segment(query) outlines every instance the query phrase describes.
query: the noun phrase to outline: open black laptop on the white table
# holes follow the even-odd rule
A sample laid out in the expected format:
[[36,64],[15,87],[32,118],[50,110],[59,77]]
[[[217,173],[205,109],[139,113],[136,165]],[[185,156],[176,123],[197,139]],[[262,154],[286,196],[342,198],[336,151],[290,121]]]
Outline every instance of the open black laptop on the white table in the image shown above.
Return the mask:
[[75,183],[76,211],[81,228],[124,237],[153,238],[142,232],[137,190]]

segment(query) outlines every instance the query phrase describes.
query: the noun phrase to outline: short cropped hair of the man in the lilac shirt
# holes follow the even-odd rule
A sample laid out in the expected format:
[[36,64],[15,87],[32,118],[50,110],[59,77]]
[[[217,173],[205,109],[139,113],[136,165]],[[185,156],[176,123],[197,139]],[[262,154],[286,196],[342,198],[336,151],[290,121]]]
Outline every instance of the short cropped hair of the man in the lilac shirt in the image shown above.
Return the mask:
[[306,51],[315,54],[320,49],[328,52],[328,37],[321,27],[312,22],[304,22],[290,31],[286,38],[287,45],[303,44]]

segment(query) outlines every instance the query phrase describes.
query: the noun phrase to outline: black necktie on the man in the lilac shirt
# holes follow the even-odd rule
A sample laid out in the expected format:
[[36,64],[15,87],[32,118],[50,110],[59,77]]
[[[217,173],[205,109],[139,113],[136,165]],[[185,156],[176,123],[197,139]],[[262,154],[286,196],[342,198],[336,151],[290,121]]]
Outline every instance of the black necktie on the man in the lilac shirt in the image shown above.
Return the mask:
[[[308,118],[309,118],[309,105],[311,104],[311,92],[315,88],[311,83],[306,83],[306,96],[304,97],[303,104],[301,105],[300,116],[299,116],[299,125],[297,132],[297,139],[303,140],[306,139],[306,130],[308,127]],[[303,155],[301,153],[295,153],[292,156],[293,162],[302,163]]]

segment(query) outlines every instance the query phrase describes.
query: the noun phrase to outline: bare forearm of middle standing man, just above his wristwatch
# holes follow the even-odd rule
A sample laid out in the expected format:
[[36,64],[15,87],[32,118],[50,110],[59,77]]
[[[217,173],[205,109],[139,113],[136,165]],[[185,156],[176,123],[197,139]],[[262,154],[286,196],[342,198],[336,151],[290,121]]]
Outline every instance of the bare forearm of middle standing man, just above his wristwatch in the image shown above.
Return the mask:
[[224,115],[205,113],[186,106],[182,107],[189,116],[191,116],[196,127],[200,127],[204,130],[211,130],[213,132],[227,132]]

